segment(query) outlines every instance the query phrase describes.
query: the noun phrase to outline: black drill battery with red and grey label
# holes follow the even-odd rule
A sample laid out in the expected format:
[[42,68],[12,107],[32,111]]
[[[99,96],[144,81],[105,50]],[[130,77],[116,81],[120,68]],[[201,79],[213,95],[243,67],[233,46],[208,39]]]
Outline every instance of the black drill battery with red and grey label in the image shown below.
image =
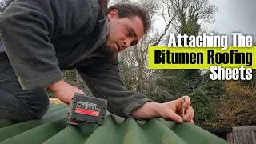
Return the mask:
[[76,93],[70,101],[67,123],[77,125],[78,122],[90,122],[102,125],[106,115],[106,109],[106,99]]

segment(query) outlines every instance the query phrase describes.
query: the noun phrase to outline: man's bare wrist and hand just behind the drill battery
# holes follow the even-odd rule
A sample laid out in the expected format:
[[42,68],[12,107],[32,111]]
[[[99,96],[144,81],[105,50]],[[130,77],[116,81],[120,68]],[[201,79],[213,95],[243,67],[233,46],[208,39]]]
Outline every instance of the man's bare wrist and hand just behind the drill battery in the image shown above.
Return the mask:
[[66,83],[63,79],[59,82],[56,82],[48,88],[52,91],[54,96],[60,99],[62,102],[67,105],[70,104],[71,99],[74,97],[74,93],[85,94],[82,90],[79,90],[75,86],[71,86]]

